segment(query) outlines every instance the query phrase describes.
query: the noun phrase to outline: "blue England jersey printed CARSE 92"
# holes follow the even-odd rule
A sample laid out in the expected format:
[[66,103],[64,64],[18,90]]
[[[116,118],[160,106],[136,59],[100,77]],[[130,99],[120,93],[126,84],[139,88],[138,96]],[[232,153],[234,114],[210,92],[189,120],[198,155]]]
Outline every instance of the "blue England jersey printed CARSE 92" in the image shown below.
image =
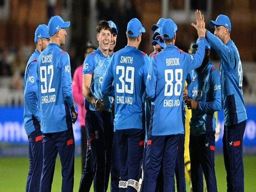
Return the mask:
[[50,43],[38,57],[41,131],[55,133],[72,128],[70,108],[74,106],[70,57]]

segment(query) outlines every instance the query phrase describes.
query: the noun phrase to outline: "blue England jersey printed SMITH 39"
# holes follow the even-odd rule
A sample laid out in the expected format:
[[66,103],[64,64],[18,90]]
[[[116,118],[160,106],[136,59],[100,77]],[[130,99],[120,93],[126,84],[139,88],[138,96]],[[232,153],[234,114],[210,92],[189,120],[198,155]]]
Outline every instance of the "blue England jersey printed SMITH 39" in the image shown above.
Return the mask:
[[136,47],[125,46],[110,61],[102,93],[111,95],[114,84],[116,130],[145,127],[145,83],[148,56]]

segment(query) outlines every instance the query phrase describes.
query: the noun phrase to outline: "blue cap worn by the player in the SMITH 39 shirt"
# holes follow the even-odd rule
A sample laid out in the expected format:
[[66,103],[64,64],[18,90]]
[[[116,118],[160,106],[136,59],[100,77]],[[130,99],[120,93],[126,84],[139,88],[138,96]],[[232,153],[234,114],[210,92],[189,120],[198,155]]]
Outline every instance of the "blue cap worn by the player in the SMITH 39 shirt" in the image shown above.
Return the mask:
[[145,33],[146,30],[142,26],[140,20],[133,18],[127,25],[127,35],[131,38],[138,37],[141,33]]

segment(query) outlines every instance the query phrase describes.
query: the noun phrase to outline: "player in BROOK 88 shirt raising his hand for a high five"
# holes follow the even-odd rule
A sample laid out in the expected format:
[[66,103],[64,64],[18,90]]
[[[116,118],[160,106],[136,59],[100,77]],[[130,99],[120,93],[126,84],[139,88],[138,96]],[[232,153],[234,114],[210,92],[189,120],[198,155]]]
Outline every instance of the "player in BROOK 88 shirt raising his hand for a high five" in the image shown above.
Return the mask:
[[[163,191],[175,191],[175,164],[179,135],[184,134],[182,100],[187,73],[199,67],[204,58],[205,30],[203,17],[197,18],[199,48],[189,55],[175,47],[177,25],[166,19],[162,26],[165,49],[151,60],[146,92],[154,102],[145,163],[145,191],[154,192],[163,164]],[[168,119],[168,120],[166,120]]]

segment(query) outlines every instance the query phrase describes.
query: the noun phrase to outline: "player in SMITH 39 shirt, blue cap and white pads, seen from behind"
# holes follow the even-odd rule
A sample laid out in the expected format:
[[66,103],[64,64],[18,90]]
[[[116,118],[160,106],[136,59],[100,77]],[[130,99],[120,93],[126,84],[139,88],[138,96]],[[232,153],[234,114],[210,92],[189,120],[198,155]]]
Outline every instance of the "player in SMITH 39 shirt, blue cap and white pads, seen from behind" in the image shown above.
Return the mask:
[[[115,125],[120,160],[120,192],[140,191],[140,170],[145,139],[144,100],[148,56],[138,50],[145,28],[133,18],[127,25],[128,44],[114,53],[102,93],[115,95]],[[113,89],[113,85],[115,89]]]

